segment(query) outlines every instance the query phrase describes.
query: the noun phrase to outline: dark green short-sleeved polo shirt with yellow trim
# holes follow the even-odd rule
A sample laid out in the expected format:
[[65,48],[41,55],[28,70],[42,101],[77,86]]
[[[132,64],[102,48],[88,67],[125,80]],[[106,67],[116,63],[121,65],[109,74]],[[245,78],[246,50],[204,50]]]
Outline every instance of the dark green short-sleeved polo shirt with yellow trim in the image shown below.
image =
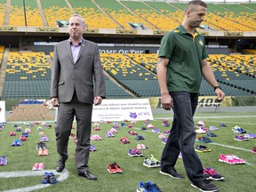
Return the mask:
[[180,25],[162,38],[158,57],[169,60],[166,68],[169,92],[199,92],[201,61],[208,57],[203,35],[195,31],[192,36]]

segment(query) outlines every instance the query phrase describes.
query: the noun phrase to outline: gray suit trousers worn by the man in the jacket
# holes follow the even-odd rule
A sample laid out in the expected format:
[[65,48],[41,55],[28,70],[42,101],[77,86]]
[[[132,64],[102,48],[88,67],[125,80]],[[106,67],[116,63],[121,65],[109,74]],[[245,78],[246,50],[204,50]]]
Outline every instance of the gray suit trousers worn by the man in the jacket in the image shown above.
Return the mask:
[[92,129],[92,104],[81,103],[76,93],[68,103],[60,103],[57,125],[55,127],[57,151],[60,161],[68,159],[68,139],[76,116],[76,169],[78,172],[88,170],[90,153],[90,136]]

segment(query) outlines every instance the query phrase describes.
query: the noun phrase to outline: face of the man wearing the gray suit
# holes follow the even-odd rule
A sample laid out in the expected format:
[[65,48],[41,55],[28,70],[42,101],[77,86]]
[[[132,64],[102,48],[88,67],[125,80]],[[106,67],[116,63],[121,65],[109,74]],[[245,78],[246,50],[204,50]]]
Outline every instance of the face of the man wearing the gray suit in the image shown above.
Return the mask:
[[80,39],[83,36],[84,27],[80,17],[75,16],[69,19],[68,32],[73,39]]

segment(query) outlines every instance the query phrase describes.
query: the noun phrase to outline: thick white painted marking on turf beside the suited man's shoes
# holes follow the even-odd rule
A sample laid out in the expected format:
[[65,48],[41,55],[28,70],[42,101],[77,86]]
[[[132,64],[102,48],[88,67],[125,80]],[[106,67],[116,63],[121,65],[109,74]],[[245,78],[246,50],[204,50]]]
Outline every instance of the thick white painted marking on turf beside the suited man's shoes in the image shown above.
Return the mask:
[[[53,172],[55,175],[60,175],[57,178],[58,182],[68,179],[68,170],[64,169],[62,172],[56,172],[55,170],[44,170],[44,171],[25,171],[25,172],[0,172],[1,178],[20,178],[20,177],[35,177],[35,176],[44,176],[44,172]],[[29,186],[26,188],[14,188],[10,190],[4,190],[3,192],[28,192],[40,188],[48,188],[53,184],[39,184],[36,186]]]

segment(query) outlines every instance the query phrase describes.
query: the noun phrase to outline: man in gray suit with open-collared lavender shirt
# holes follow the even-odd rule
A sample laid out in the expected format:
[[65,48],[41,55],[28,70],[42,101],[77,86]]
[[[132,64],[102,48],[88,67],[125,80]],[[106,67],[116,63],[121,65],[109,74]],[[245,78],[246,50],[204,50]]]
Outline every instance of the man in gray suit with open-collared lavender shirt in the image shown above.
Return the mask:
[[68,138],[76,116],[76,169],[79,176],[97,180],[88,170],[92,104],[100,105],[106,96],[106,85],[98,45],[83,38],[84,29],[84,19],[72,15],[69,39],[54,46],[51,100],[58,107],[55,133],[60,155],[56,170],[62,172],[65,168]]

